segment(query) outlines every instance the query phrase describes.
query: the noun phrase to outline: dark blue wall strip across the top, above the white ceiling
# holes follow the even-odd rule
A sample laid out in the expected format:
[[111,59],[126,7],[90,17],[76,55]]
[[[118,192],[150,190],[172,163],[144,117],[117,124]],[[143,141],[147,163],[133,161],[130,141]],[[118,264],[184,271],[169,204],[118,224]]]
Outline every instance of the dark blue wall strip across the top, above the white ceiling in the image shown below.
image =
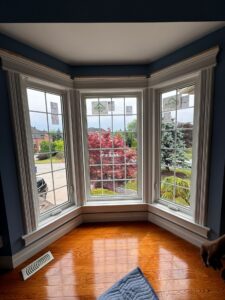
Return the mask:
[[7,0],[1,22],[161,22],[223,20],[223,0]]

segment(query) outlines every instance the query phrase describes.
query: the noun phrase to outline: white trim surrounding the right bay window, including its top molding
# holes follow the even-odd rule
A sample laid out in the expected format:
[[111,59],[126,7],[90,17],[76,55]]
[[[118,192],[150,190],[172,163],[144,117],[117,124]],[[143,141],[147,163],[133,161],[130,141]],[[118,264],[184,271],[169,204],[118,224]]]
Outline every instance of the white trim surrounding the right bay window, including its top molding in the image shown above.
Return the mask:
[[[150,124],[148,124],[149,134],[152,135],[152,146],[149,143],[150,158],[148,160],[147,178],[151,178],[148,195],[149,203],[155,205],[159,210],[160,206],[156,204],[159,200],[159,93],[160,90],[176,85],[181,82],[190,82],[197,78],[199,83],[199,122],[197,124],[197,157],[201,157],[197,162],[193,162],[196,166],[196,176],[194,182],[196,184],[196,201],[195,209],[193,208],[192,222],[205,226],[207,218],[207,202],[208,202],[208,177],[209,177],[209,149],[210,149],[210,133],[211,133],[211,111],[212,111],[212,93],[213,93],[213,72],[216,66],[216,57],[219,48],[214,47],[192,58],[186,59],[178,64],[165,68],[151,75],[148,80],[149,90],[146,93],[145,102],[149,102],[146,106],[151,106]],[[144,109],[145,111],[145,109]],[[197,118],[195,116],[195,118]],[[157,210],[155,210],[156,212]],[[172,213],[173,214],[173,213]],[[188,217],[187,217],[188,219]]]

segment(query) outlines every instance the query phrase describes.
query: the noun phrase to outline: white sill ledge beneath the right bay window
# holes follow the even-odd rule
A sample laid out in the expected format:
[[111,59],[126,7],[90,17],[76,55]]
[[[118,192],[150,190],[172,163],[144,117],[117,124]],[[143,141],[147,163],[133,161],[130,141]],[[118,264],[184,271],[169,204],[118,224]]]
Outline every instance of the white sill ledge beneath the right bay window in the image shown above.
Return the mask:
[[165,219],[167,221],[170,221],[171,223],[183,227],[184,229],[191,231],[203,238],[208,237],[210,229],[208,227],[196,224],[194,222],[194,218],[185,213],[174,212],[168,207],[159,203],[149,204],[148,212],[151,213],[153,216],[158,216],[162,218],[162,220]]

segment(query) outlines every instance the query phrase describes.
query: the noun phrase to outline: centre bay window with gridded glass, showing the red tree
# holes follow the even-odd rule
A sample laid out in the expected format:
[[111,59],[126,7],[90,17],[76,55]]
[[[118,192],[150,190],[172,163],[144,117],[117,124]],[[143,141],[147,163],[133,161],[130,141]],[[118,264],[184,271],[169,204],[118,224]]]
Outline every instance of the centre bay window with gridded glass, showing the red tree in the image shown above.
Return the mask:
[[88,95],[82,100],[87,199],[140,199],[139,96]]

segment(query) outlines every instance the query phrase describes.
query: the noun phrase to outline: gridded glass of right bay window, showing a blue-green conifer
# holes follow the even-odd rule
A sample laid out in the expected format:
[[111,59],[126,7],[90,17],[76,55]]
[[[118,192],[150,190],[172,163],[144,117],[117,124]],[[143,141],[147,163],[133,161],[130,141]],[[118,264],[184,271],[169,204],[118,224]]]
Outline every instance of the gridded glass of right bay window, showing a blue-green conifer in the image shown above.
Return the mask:
[[160,201],[190,211],[193,203],[195,85],[160,93]]

